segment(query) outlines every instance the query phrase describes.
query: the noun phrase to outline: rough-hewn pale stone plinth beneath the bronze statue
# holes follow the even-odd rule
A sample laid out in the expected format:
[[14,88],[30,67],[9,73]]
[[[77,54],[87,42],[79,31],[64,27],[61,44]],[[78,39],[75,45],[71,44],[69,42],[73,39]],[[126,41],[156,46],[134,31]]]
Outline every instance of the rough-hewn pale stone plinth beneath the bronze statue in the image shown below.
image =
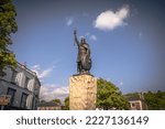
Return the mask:
[[95,110],[97,78],[91,75],[75,75],[69,79],[70,110]]

